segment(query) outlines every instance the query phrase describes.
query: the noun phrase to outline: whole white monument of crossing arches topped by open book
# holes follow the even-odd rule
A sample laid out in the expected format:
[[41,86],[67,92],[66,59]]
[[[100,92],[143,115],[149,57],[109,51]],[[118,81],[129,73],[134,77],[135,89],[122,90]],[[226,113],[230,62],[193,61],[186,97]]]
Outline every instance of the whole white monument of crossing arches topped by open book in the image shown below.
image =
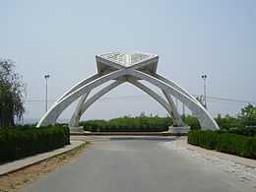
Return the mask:
[[[183,123],[172,97],[179,99],[192,111],[193,115],[198,118],[203,130],[219,129],[214,118],[196,98],[189,95],[173,81],[167,80],[157,73],[158,62],[158,55],[141,52],[111,52],[96,55],[96,75],[82,80],[58,98],[39,120],[37,127],[55,124],[62,111],[76,99],[80,98],[69,123],[73,131],[78,131],[81,116],[96,99],[117,86],[128,82],[149,96],[152,96],[166,109],[168,114],[173,118],[174,132],[184,129],[187,130],[187,127]],[[160,88],[164,97],[142,84],[141,80],[145,80]],[[94,96],[89,97],[92,90],[109,81],[113,81],[113,83],[97,92]]]

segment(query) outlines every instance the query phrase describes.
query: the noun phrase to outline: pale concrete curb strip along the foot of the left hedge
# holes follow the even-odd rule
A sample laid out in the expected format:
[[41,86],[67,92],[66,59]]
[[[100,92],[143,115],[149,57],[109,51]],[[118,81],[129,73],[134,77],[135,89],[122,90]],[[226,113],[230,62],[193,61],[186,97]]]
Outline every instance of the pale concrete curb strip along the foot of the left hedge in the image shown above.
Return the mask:
[[71,152],[73,150],[80,148],[85,143],[86,143],[85,141],[71,141],[71,145],[65,146],[64,148],[56,149],[51,152],[38,154],[22,160],[7,162],[5,164],[0,165],[0,176],[4,176],[6,174],[16,172],[26,167],[32,166],[33,164],[39,163],[43,160],[48,160],[48,159],[66,154],[68,152]]

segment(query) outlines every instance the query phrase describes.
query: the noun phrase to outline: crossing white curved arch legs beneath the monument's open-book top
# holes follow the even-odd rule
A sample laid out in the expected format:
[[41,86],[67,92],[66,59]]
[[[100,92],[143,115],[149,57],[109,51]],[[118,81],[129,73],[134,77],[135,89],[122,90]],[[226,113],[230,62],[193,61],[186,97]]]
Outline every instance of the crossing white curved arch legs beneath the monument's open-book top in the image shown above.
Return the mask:
[[[168,113],[170,115],[174,115],[176,119],[178,119],[180,115],[177,111],[174,111],[176,108],[173,104],[171,96],[175,96],[180,101],[185,103],[185,105],[198,117],[202,129],[219,129],[219,126],[217,125],[213,117],[193,96],[189,95],[187,92],[185,92],[173,82],[170,82],[162,77],[158,78],[156,77],[156,75],[150,75],[148,73],[144,73],[142,71],[130,68],[115,70],[113,72],[107,73],[106,75],[96,74],[95,76],[87,80],[83,80],[72,89],[70,89],[66,94],[61,96],[56,102],[54,102],[51,108],[40,119],[37,127],[54,124],[62,111],[65,110],[73,101],[82,96],[77,110],[75,111],[70,121],[70,125],[78,125],[78,121],[81,115],[88,109],[90,105],[92,105],[96,101],[96,99],[110,92],[112,89],[119,86],[123,82],[127,81],[156,99],[168,111]],[[141,84],[137,79],[145,80],[160,88],[164,96],[167,98],[167,101],[165,101],[165,99],[152,91],[150,88]],[[87,101],[85,101],[87,95],[93,89],[110,80],[116,80],[116,82],[105,87],[95,96],[92,96]],[[179,122],[179,125],[181,126],[181,122]]]

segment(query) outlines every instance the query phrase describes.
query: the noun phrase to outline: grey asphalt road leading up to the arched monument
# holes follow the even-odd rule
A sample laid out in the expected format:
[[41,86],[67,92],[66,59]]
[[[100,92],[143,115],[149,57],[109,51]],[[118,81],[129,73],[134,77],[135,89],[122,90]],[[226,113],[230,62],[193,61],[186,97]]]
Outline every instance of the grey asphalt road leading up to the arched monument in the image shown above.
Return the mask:
[[79,159],[43,175],[29,192],[256,191],[217,168],[164,148],[170,138],[112,138],[95,142]]

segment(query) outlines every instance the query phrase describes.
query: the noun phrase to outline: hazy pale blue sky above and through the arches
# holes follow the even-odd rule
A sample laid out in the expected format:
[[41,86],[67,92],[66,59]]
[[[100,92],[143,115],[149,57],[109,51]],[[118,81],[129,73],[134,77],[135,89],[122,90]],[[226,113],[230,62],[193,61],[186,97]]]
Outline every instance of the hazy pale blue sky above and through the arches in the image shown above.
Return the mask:
[[[193,95],[256,101],[255,0],[8,0],[0,1],[0,58],[12,59],[27,83],[27,99],[49,99],[96,73],[95,55],[145,51],[160,55],[159,73]],[[113,97],[117,96],[117,97]],[[131,97],[123,97],[131,96]],[[209,100],[212,114],[244,103]],[[69,118],[71,106],[61,116]],[[25,117],[39,118],[43,101],[27,101]],[[96,101],[84,118],[141,111],[166,114],[149,96],[123,85]]]

